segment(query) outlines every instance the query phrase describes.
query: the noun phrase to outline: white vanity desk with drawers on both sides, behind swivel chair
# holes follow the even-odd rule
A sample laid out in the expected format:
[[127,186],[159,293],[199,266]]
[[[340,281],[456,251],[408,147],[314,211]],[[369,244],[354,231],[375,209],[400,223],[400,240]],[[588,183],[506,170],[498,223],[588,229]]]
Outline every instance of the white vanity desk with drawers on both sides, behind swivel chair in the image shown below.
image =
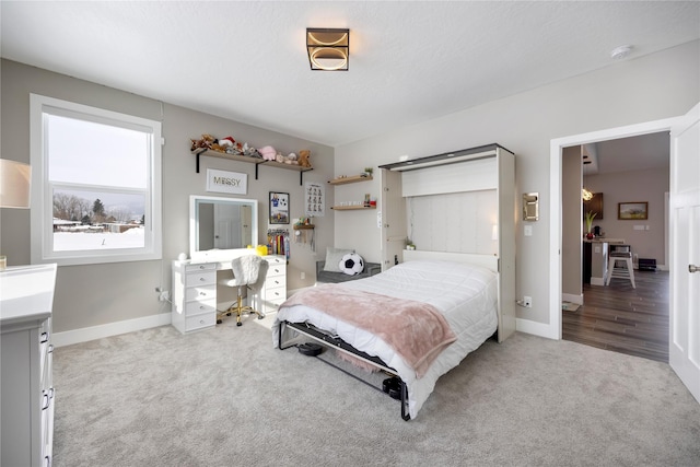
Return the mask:
[[[253,253],[255,252],[253,250]],[[268,255],[269,268],[253,306],[262,313],[277,312],[287,300],[287,260]],[[231,270],[231,259],[173,261],[173,306],[171,323],[183,334],[217,325],[217,271]]]

